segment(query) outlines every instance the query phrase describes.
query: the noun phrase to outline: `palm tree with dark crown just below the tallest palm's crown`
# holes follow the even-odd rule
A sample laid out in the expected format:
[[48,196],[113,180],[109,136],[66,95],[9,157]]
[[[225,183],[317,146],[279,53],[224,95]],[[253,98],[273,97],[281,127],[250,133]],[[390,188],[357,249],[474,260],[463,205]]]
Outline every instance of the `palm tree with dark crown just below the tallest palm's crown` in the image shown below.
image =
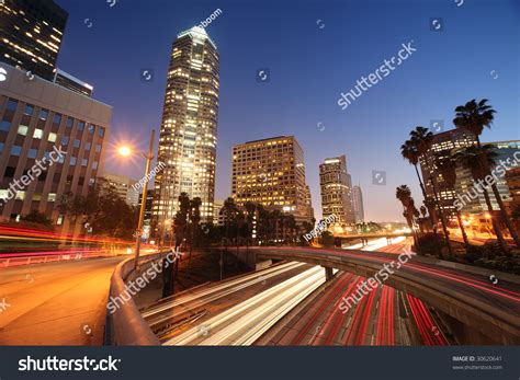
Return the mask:
[[[491,159],[491,153],[488,151],[490,146],[486,146],[486,148],[483,147],[466,147],[463,149],[457,149],[453,152],[453,159],[461,162],[463,165],[470,169],[473,180],[475,182],[482,183],[486,175],[488,175],[488,164],[486,162],[487,159]],[[490,154],[487,158],[484,158],[485,152],[487,151],[488,154]],[[495,234],[497,235],[498,244],[502,249],[502,251],[506,251],[506,242],[504,241],[504,235],[502,231],[500,230],[500,224],[495,217],[493,212],[493,205],[491,200],[489,199],[489,193],[484,186],[482,187],[482,193],[484,195],[484,199],[486,200],[487,209],[489,214],[491,215],[491,224],[493,229],[495,230]]]

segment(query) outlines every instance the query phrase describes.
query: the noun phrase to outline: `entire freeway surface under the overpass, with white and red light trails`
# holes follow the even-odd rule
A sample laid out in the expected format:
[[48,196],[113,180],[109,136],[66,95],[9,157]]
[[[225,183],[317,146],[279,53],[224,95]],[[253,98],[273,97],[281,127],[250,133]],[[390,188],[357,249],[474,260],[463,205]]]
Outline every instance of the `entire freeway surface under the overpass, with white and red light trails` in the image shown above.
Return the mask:
[[[408,239],[370,242],[368,251],[402,253]],[[284,263],[165,300],[143,312],[165,345],[446,345],[434,310],[384,286],[347,313],[342,297],[365,278]],[[259,286],[262,284],[263,286]]]

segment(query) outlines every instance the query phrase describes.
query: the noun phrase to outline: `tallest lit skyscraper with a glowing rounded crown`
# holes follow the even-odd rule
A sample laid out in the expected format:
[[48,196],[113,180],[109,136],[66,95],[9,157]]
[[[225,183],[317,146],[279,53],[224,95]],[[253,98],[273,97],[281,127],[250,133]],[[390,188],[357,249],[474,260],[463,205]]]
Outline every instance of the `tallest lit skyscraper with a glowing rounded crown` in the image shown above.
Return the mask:
[[203,221],[213,221],[218,118],[218,53],[205,30],[178,35],[171,50],[156,175],[154,218],[172,220],[179,196],[202,199]]

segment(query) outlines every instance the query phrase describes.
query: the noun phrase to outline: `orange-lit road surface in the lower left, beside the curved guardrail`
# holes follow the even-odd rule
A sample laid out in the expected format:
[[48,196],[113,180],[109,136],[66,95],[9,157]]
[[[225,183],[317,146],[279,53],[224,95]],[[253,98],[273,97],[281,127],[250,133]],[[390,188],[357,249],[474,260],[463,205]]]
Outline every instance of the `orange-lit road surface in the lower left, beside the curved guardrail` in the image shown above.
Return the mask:
[[114,267],[126,256],[0,269],[0,345],[101,345]]

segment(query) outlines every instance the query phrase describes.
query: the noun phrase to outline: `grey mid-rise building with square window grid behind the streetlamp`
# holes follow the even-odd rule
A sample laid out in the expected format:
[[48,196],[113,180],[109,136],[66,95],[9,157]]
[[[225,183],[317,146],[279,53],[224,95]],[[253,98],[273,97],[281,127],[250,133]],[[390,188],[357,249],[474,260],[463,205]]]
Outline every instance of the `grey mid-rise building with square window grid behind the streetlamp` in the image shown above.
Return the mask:
[[[5,64],[0,68],[5,71],[0,82],[0,219],[37,210],[67,230],[71,218],[63,201],[87,195],[102,175],[112,107],[38,77],[27,82],[25,72]],[[66,153],[55,162],[58,147]]]

